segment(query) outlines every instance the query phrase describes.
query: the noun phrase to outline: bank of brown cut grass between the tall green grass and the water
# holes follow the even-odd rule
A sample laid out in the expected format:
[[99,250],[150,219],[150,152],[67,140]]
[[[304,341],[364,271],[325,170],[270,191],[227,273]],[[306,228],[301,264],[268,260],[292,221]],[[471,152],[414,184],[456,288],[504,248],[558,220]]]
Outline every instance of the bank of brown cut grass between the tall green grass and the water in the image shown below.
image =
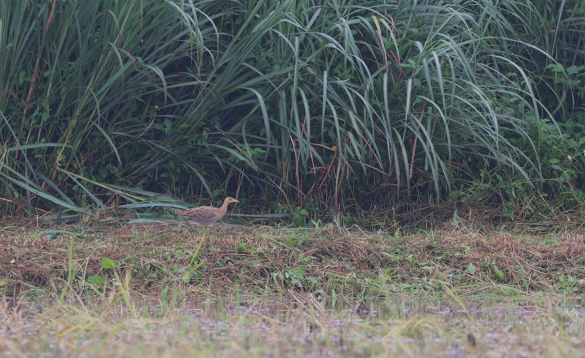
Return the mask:
[[36,228],[4,222],[0,292],[9,297],[128,300],[291,292],[323,297],[583,292],[580,230],[523,235],[448,227],[402,236],[326,226],[311,230],[118,221]]

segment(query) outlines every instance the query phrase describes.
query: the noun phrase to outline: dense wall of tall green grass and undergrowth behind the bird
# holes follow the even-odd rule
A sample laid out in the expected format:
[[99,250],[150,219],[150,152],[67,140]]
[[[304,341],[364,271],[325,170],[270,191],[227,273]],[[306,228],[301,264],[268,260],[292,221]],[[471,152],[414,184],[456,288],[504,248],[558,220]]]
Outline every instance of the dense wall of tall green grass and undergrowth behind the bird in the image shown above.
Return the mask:
[[579,209],[583,2],[343,3],[2,1],[6,212]]

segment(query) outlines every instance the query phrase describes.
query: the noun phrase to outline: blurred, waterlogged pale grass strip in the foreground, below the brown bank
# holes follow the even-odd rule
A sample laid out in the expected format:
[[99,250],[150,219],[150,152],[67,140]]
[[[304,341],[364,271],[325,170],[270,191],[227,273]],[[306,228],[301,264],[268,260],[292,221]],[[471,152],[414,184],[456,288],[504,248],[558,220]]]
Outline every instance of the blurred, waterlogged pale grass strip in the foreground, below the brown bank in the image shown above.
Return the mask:
[[0,312],[4,356],[561,357],[585,348],[585,304],[568,298],[270,300]]

